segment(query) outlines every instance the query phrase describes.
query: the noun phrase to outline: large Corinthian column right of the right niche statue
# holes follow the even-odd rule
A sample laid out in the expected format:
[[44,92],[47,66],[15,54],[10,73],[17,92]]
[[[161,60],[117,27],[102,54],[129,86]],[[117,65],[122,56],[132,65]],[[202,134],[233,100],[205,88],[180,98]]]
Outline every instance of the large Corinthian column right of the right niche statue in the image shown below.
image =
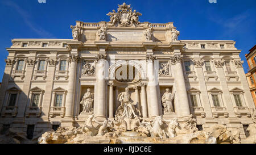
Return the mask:
[[188,116],[190,114],[189,111],[189,103],[188,103],[188,95],[187,89],[185,86],[185,79],[183,76],[183,69],[181,66],[181,57],[180,55],[175,55],[171,57],[172,65],[175,65],[175,86],[176,86],[176,97],[178,100],[177,103],[177,114],[180,117]]

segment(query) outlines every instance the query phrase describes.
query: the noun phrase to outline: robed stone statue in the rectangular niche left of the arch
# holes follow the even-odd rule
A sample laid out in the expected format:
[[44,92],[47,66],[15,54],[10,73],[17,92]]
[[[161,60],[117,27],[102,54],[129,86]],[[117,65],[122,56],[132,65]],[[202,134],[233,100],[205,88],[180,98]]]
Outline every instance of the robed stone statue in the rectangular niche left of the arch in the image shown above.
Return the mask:
[[80,102],[82,104],[82,113],[88,112],[91,113],[93,111],[93,93],[90,93],[90,89],[87,89],[87,92],[84,93],[84,97]]

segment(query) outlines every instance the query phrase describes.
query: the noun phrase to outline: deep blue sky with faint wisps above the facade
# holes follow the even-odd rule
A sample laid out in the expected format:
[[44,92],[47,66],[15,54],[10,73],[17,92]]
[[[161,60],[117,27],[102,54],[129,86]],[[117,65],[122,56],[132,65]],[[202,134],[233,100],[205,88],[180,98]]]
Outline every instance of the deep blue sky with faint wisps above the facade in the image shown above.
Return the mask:
[[142,13],[141,22],[174,22],[180,40],[235,40],[247,72],[245,54],[256,44],[255,0],[168,0],[168,1],[82,1],[82,0],[1,0],[0,79],[5,69],[5,48],[11,39],[71,39],[70,25],[109,21],[106,14],[126,2]]

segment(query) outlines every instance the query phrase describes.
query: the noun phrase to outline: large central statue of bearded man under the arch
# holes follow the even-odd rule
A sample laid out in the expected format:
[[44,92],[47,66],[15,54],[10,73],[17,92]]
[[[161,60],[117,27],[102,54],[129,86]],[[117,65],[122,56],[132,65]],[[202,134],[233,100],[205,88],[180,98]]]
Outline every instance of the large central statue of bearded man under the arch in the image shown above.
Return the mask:
[[138,109],[134,107],[137,103],[131,103],[129,88],[125,88],[125,92],[118,94],[118,101],[121,102],[121,105],[117,108],[115,112],[115,120],[119,121],[123,118],[134,119],[139,117],[141,114]]

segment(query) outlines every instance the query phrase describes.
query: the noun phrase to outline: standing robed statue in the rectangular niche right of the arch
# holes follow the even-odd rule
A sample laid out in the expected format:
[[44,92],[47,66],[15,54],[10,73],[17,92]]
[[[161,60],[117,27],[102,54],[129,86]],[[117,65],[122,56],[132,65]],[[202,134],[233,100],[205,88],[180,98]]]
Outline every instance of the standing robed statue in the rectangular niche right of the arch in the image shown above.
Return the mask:
[[174,112],[174,107],[172,106],[172,101],[174,100],[175,92],[171,93],[170,89],[166,89],[166,93],[162,96],[162,103],[164,107],[164,112]]

